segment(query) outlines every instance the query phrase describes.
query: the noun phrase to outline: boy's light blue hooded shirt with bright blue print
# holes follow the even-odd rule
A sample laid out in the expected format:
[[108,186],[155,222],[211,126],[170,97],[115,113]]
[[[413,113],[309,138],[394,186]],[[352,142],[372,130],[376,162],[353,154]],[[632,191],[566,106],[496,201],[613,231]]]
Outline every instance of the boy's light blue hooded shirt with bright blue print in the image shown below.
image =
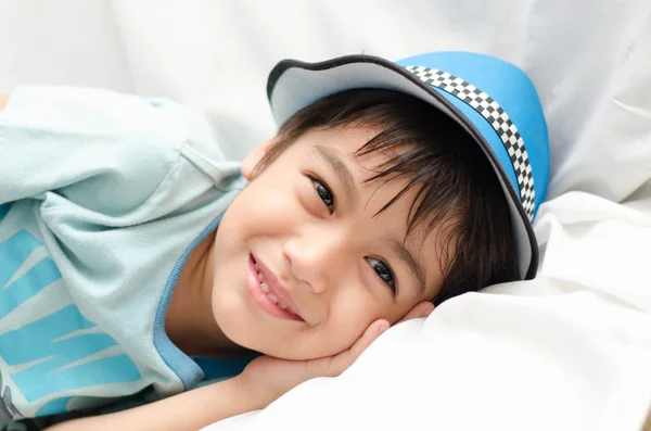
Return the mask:
[[183,264],[245,186],[166,99],[16,88],[0,112],[0,428],[203,373],[165,333]]

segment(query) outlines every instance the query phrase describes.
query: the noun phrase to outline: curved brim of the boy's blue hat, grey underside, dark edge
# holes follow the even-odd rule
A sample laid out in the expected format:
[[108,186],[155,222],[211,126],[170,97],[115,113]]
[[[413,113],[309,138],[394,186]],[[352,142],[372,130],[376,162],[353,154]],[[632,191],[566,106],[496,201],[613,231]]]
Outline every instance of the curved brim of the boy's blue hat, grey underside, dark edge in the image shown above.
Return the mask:
[[538,268],[536,236],[520,198],[510,186],[507,173],[473,123],[433,87],[388,60],[372,55],[346,55],[319,63],[297,60],[279,62],[269,74],[267,97],[280,126],[317,100],[355,88],[381,88],[417,97],[446,113],[474,138],[494,167],[508,198],[521,279],[534,278]]

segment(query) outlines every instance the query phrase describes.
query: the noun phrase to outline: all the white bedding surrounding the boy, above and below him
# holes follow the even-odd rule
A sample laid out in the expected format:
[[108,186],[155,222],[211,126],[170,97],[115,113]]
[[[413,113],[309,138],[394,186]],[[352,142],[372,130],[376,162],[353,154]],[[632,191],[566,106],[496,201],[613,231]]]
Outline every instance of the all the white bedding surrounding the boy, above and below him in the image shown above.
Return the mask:
[[648,0],[0,0],[0,92],[22,83],[167,96],[226,154],[273,132],[283,58],[473,50],[536,84],[551,142],[539,276],[387,331],[336,379],[208,427],[641,430],[651,406]]

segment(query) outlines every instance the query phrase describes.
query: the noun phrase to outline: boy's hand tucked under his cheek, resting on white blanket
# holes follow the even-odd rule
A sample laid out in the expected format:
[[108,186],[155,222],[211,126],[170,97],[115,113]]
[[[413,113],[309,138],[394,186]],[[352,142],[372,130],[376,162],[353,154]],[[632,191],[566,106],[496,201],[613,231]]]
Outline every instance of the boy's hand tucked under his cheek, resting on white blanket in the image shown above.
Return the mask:
[[[426,317],[434,309],[430,302],[421,302],[400,320]],[[316,377],[336,377],[361,355],[382,332],[388,329],[385,319],[373,321],[348,348],[336,355],[308,360],[289,360],[260,356],[252,360],[238,378],[246,392],[257,398],[257,408],[264,408],[285,392]]]

